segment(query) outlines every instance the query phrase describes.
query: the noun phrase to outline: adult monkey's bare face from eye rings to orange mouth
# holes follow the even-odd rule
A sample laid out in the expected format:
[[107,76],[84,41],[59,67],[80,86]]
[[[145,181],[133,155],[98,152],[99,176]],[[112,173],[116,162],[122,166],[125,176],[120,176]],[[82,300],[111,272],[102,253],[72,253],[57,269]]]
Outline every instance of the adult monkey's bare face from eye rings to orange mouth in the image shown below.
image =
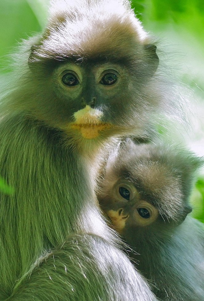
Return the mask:
[[127,74],[119,65],[64,64],[55,70],[54,78],[55,92],[70,105],[70,115],[61,125],[66,133],[95,139],[125,130],[110,114],[118,102],[122,103],[122,91],[128,87]]

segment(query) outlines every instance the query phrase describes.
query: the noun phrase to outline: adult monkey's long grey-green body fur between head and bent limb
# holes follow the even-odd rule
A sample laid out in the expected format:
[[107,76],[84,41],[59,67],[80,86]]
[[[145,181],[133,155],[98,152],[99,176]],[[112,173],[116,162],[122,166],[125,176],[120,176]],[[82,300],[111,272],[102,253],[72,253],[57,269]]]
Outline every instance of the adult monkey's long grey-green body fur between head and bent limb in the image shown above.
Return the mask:
[[[102,233],[96,229],[104,225],[96,212],[95,174],[91,176],[86,156],[65,147],[62,137],[62,132],[20,115],[1,121],[0,175],[14,188],[0,202],[0,253],[5,259],[0,283],[5,290],[29,271],[42,250],[59,245],[70,233]],[[106,229],[103,233],[110,237]]]

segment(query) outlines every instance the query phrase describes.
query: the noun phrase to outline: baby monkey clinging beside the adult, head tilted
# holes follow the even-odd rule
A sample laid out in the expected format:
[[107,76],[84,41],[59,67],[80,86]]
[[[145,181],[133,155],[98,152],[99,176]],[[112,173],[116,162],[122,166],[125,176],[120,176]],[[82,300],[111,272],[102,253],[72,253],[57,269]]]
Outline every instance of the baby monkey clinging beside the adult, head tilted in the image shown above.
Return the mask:
[[127,140],[110,156],[100,183],[103,212],[161,300],[204,300],[204,228],[186,217],[202,163],[183,149]]

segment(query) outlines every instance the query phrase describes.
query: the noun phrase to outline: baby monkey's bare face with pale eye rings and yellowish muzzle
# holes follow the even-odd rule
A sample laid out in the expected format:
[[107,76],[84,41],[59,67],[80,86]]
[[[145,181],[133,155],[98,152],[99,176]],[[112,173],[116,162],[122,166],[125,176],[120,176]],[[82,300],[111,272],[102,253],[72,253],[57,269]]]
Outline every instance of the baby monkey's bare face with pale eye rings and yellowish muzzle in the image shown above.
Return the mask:
[[106,195],[99,197],[99,202],[114,229],[120,234],[126,225],[145,227],[154,223],[159,216],[158,209],[125,178],[120,178],[106,191]]

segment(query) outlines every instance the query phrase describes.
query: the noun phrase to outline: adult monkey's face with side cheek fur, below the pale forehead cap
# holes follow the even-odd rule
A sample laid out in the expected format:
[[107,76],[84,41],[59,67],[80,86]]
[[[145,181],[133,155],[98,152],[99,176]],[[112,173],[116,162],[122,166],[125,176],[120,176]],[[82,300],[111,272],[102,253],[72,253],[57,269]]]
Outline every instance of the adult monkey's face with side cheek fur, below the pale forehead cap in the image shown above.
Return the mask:
[[[149,53],[153,61],[157,58],[155,49],[142,46],[140,51]],[[148,86],[158,61],[155,59],[153,67],[147,64],[146,57],[141,63],[137,56],[118,59],[103,54],[58,60],[55,54],[53,58],[39,56],[37,61],[31,61],[31,53],[28,76],[38,83],[38,88],[34,90],[33,82],[29,82],[32,87],[28,93],[32,92],[33,101],[28,98],[23,110],[29,110],[34,119],[49,127],[61,129],[68,137],[67,143],[71,138],[83,148],[87,139],[94,147],[111,136],[146,136],[150,127],[147,115],[157,108],[159,100],[154,103],[146,93],[143,99],[141,89]]]

